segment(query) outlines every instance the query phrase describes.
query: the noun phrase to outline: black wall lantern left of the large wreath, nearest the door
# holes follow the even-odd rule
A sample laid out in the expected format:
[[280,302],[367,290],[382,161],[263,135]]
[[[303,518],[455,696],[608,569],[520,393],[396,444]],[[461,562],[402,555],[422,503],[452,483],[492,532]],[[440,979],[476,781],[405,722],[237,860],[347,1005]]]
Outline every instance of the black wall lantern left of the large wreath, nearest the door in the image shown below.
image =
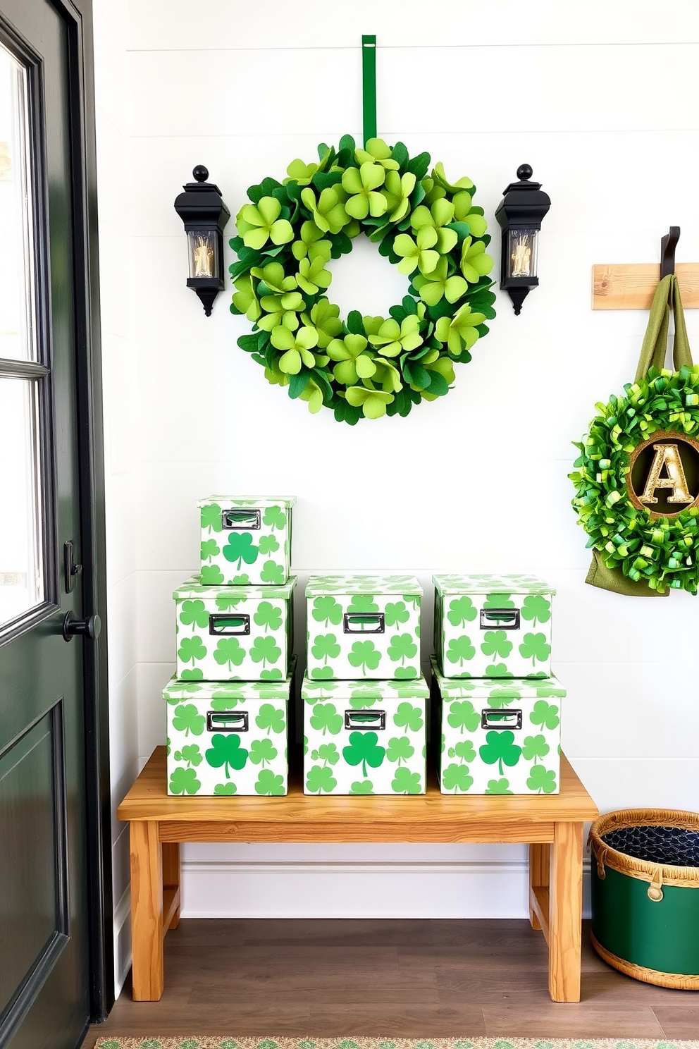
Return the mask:
[[214,300],[223,291],[223,230],[231,212],[223,204],[218,186],[207,183],[209,171],[198,164],[195,181],[175,200],[175,211],[184,223],[190,261],[187,286],[193,288],[211,317]]

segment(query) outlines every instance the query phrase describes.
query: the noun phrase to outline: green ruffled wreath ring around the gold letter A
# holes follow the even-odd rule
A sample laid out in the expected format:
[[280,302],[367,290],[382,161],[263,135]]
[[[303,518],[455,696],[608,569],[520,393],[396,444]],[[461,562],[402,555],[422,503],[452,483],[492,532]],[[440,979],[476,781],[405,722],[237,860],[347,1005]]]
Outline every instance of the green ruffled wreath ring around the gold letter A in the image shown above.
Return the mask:
[[633,505],[627,489],[630,455],[656,430],[699,433],[699,366],[678,372],[650,368],[646,379],[624,387],[626,397],[597,404],[581,455],[569,474],[575,486],[572,506],[605,564],[618,568],[651,590],[667,586],[697,593],[699,508],[673,517],[652,518]]

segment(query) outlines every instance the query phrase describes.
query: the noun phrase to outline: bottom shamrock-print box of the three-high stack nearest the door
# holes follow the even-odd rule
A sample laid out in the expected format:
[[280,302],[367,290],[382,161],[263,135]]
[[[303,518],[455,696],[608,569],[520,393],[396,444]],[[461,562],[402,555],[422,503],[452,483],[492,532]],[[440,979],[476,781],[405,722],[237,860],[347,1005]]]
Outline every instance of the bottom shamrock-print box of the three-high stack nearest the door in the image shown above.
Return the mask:
[[294,663],[283,681],[170,681],[169,794],[286,794]]

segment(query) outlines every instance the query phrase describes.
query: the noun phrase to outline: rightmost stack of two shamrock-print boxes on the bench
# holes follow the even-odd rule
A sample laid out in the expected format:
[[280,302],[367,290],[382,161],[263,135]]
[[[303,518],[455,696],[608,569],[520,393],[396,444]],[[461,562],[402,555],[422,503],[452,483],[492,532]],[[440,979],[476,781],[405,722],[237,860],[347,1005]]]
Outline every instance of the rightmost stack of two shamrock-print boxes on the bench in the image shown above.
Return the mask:
[[444,794],[560,789],[551,598],[533,576],[436,575],[434,741]]

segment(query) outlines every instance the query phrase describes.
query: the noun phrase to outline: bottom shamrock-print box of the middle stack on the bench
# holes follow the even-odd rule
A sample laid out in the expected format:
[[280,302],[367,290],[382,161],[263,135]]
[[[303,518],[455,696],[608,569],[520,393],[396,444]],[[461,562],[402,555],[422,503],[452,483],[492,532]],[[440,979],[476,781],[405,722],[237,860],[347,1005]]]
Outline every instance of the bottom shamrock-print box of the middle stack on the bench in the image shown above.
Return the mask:
[[304,678],[304,794],[424,794],[429,694],[422,676]]

